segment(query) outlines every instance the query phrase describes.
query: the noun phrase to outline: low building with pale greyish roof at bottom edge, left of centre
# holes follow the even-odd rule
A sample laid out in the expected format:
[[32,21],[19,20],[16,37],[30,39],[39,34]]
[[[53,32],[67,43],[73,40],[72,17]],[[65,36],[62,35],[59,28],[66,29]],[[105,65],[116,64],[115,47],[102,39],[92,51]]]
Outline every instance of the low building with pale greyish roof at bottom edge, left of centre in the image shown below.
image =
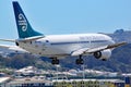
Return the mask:
[[37,78],[14,78],[7,84],[7,87],[53,87],[52,83],[47,79]]

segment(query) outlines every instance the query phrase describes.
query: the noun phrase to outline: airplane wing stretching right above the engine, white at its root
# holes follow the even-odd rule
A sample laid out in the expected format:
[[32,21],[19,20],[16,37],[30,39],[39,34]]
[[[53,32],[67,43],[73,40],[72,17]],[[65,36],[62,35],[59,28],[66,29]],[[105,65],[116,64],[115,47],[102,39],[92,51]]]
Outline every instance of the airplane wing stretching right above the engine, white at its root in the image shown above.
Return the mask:
[[94,52],[97,52],[97,51],[103,51],[103,50],[106,50],[106,49],[114,49],[114,48],[123,46],[126,44],[127,42],[119,42],[119,44],[103,46],[103,47],[98,47],[98,48],[82,48],[82,49],[79,49],[76,51],[73,51],[71,53],[71,55],[81,55],[81,54],[87,54],[87,53],[90,54],[90,53],[94,53]]

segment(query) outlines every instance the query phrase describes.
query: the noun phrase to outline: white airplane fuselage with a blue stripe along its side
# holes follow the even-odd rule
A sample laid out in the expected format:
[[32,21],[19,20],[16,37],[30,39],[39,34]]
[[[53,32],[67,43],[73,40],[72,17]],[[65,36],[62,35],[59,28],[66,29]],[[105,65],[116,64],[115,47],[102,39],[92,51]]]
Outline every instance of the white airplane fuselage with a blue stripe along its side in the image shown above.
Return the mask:
[[44,57],[64,57],[82,48],[92,49],[112,44],[114,40],[107,35],[76,34],[46,36],[33,41],[19,42],[19,46],[31,53]]

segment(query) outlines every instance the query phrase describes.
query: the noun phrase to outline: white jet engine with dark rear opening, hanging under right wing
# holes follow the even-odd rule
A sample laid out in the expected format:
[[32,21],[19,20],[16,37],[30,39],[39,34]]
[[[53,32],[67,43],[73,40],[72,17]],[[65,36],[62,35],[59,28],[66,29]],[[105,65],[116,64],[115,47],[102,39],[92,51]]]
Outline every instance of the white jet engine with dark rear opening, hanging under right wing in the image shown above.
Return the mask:
[[107,59],[109,59],[111,57],[111,50],[107,49],[107,50],[104,50],[104,51],[94,52],[94,57],[96,59],[100,59],[103,61],[106,61]]

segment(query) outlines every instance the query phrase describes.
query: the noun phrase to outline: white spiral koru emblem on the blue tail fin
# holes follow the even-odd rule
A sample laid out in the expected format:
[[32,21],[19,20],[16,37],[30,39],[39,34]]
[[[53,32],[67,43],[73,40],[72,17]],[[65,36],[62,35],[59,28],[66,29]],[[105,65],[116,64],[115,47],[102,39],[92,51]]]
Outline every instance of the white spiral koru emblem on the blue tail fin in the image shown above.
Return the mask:
[[21,13],[19,14],[19,25],[23,32],[27,30],[27,22],[26,22],[24,15]]

